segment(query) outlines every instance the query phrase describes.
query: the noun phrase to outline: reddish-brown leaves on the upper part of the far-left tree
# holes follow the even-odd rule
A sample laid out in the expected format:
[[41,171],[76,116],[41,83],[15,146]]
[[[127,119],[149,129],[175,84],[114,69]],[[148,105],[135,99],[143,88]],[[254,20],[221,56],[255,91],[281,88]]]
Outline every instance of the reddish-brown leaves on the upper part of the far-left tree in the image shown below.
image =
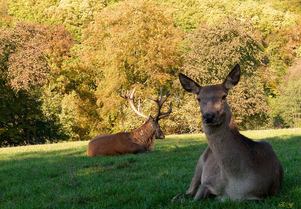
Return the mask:
[[17,22],[1,29],[3,61],[6,61],[8,83],[15,89],[43,86],[49,76],[59,73],[62,60],[74,39],[62,26]]

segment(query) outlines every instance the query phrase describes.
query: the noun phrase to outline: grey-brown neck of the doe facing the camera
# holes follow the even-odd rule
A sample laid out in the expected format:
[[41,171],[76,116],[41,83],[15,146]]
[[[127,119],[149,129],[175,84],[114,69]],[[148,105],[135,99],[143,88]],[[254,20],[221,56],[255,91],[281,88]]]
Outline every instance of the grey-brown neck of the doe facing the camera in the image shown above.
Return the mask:
[[219,126],[204,125],[203,129],[222,173],[226,176],[240,175],[248,153],[230,109]]

